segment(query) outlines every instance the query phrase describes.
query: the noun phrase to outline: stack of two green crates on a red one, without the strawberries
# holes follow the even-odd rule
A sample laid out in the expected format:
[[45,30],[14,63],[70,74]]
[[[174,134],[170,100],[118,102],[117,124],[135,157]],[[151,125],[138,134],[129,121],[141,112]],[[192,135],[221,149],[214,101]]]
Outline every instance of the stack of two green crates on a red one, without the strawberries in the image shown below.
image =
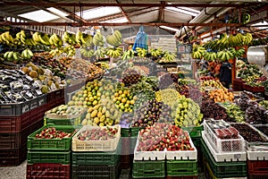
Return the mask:
[[[63,139],[38,139],[36,135],[48,127],[71,132]],[[27,178],[71,178],[71,138],[77,132],[72,126],[47,124],[28,136]]]

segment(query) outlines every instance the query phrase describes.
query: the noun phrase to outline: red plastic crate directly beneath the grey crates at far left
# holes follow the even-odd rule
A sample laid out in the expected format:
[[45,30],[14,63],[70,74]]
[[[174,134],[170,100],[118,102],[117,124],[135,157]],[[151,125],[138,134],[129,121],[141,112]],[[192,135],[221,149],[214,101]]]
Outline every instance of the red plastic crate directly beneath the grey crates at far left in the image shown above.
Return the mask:
[[21,132],[31,124],[42,120],[46,112],[46,105],[37,107],[20,116],[0,116],[0,133]]

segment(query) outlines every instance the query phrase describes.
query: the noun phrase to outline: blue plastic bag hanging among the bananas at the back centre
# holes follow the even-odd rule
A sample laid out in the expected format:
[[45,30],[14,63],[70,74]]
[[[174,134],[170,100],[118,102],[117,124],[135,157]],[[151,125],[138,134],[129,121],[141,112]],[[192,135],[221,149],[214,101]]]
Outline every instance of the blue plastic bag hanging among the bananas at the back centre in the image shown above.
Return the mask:
[[132,49],[136,50],[136,47],[142,47],[142,48],[148,49],[148,35],[144,31],[143,26],[140,26],[138,30],[137,37],[135,39]]

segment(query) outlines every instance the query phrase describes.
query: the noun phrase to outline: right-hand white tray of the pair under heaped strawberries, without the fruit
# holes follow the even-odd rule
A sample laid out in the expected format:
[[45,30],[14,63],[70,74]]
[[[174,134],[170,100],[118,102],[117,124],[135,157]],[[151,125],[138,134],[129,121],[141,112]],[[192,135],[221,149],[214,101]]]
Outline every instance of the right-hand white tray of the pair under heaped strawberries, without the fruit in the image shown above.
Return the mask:
[[194,148],[194,150],[176,150],[176,151],[166,150],[165,151],[166,159],[172,159],[172,160],[197,159],[197,148],[195,147],[190,137],[189,142],[191,147]]

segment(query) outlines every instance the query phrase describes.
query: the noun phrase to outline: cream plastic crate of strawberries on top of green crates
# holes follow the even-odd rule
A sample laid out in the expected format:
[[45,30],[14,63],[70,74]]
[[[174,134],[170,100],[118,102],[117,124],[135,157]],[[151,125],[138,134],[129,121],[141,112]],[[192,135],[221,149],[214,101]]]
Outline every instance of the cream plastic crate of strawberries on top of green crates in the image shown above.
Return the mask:
[[121,137],[121,126],[84,125],[71,141],[72,151],[113,151]]

